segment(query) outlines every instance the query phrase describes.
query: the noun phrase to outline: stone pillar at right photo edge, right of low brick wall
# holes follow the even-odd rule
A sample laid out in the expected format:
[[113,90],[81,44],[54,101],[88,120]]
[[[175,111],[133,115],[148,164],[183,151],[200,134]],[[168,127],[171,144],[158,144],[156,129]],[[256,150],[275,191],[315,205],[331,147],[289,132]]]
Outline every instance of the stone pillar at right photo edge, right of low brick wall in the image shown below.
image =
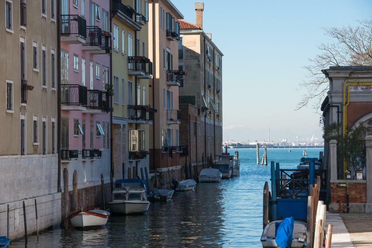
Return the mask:
[[372,213],[372,136],[366,136],[366,213]]

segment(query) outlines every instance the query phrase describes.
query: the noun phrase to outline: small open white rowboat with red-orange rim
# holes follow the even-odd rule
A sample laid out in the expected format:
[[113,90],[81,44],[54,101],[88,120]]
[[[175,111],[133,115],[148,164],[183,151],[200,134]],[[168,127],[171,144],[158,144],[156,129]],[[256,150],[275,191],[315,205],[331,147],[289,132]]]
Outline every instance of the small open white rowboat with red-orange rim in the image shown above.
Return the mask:
[[109,215],[110,213],[105,210],[84,211],[81,209],[81,211],[70,215],[70,221],[74,227],[103,226],[106,225]]

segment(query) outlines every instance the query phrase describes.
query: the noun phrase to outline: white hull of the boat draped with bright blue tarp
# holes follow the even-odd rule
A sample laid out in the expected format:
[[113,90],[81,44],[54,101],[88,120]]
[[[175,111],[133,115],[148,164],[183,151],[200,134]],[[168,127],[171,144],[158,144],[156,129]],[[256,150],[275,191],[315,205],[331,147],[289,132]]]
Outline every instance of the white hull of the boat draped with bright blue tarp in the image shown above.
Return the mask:
[[[286,219],[290,219],[290,218],[286,218]],[[276,233],[275,225],[276,223],[279,224],[280,222],[282,222],[282,220],[272,221],[263,229],[262,236],[261,236],[262,247],[264,248],[278,247],[276,240],[275,240],[276,238],[275,237],[275,233]],[[291,248],[304,247],[305,239],[306,239],[306,223],[302,221],[294,220]]]

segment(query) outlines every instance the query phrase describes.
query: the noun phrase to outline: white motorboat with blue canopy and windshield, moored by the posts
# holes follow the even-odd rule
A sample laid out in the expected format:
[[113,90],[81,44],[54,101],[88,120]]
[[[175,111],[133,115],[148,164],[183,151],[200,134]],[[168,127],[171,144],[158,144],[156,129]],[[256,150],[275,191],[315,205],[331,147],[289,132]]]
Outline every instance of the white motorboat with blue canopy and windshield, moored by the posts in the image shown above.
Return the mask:
[[111,212],[119,214],[146,213],[150,202],[147,200],[146,182],[142,179],[120,179],[115,181]]

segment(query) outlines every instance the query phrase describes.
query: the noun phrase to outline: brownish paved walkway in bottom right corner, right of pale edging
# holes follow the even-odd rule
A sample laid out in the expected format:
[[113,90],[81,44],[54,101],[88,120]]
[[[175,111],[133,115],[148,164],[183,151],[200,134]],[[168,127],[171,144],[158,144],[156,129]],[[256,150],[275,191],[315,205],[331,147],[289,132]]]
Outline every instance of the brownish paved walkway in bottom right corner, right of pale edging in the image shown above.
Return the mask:
[[372,247],[372,214],[344,213],[340,214],[340,216],[350,232],[351,240],[355,247]]

